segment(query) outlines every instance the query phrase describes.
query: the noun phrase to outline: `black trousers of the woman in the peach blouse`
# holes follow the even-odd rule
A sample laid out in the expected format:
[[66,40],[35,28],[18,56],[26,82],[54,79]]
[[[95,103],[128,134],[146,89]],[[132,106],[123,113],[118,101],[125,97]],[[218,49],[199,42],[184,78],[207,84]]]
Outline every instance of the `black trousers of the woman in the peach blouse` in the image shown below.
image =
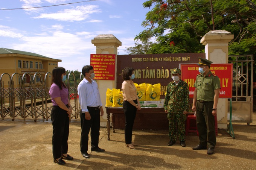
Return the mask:
[[[137,104],[137,100],[133,100],[133,102]],[[128,101],[123,101],[123,112],[125,114],[125,143],[130,144],[137,109]]]

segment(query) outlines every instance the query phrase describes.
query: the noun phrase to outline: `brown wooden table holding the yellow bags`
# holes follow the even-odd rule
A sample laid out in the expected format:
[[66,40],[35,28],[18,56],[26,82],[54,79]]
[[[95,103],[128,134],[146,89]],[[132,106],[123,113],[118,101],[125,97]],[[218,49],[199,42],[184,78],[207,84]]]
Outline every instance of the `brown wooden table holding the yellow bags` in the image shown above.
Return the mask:
[[[114,129],[114,114],[123,114],[122,107],[106,107],[107,112],[107,130],[108,130],[108,140],[110,140],[110,113],[112,113],[112,128],[113,133],[115,132]],[[137,111],[136,114],[166,114],[164,108],[162,107],[142,107],[140,110]]]

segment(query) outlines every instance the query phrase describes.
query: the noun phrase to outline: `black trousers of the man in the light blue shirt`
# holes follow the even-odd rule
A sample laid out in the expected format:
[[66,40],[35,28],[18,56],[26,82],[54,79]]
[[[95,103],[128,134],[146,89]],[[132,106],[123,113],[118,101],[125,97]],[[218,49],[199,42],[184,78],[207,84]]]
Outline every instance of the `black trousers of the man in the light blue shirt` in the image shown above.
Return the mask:
[[81,118],[81,140],[80,140],[80,151],[81,153],[85,153],[88,150],[88,140],[89,140],[89,132],[91,129],[91,147],[98,147],[99,145],[99,129],[100,129],[100,109],[87,107],[91,120],[85,119],[85,113],[82,113],[80,109],[80,118]]

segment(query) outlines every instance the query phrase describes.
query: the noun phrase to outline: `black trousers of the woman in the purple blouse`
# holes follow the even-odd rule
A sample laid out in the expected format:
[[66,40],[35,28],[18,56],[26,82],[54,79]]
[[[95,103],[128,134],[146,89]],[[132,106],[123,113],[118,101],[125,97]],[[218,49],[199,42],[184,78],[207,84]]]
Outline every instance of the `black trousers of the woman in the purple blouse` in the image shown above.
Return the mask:
[[61,153],[67,153],[69,138],[69,117],[66,110],[59,106],[52,106],[52,153],[53,158],[61,157]]

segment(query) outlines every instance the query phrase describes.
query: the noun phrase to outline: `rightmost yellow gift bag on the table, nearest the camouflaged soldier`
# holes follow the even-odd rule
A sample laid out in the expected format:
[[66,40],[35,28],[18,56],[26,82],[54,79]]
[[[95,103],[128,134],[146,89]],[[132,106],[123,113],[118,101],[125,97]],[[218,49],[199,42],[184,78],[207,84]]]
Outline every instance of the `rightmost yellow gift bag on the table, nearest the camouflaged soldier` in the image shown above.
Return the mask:
[[153,101],[153,100],[160,100],[161,95],[161,84],[146,84],[147,90],[146,90],[146,100],[147,101]]

